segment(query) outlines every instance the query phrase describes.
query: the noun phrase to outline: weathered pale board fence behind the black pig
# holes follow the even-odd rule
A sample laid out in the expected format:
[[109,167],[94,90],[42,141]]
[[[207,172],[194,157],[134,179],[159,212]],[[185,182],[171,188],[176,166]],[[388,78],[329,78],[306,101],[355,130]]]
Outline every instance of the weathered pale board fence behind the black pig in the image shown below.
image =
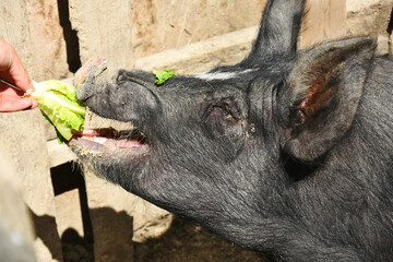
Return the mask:
[[[170,68],[195,73],[235,63],[249,52],[265,2],[2,0],[0,37],[15,47],[36,81],[70,78],[81,63],[95,57],[106,57],[114,69]],[[301,47],[327,38],[371,34],[379,37],[379,53],[388,52],[393,0],[313,0],[309,4]],[[96,121],[102,120],[90,116],[86,124]],[[70,190],[55,196],[50,168],[74,159],[74,155],[57,144],[53,129],[43,121],[38,109],[0,114],[0,150],[16,168],[32,211],[36,257],[38,261],[61,261],[60,236],[73,228],[85,237],[85,230],[80,192]],[[169,227],[169,213],[92,171],[86,171],[85,182],[96,261],[132,261],[131,239],[144,241]],[[112,221],[117,227],[108,224]]]

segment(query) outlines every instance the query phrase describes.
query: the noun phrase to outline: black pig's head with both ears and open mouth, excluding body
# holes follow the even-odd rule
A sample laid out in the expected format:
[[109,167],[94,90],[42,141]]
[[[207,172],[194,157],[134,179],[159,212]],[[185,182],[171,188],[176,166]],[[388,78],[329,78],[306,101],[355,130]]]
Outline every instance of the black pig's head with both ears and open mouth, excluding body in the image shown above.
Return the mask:
[[250,56],[233,67],[163,85],[143,71],[121,70],[115,83],[88,78],[79,98],[135,129],[85,131],[70,145],[126,190],[251,248],[274,249],[252,236],[296,228],[290,186],[348,131],[374,48],[355,38],[298,52],[302,10],[301,1],[270,1]]

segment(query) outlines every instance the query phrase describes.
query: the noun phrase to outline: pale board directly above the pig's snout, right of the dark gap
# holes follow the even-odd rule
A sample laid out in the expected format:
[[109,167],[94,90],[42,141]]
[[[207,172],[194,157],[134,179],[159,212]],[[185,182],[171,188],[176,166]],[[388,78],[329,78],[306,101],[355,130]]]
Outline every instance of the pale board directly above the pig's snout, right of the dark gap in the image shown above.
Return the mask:
[[70,0],[70,21],[78,32],[81,61],[105,57],[115,67],[131,68],[131,1]]

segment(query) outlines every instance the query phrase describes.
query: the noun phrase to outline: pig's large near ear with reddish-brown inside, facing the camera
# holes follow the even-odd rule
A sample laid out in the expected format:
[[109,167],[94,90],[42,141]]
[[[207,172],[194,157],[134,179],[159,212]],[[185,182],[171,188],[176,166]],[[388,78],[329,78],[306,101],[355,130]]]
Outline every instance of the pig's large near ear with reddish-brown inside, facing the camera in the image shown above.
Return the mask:
[[284,151],[314,160],[348,131],[374,55],[373,38],[324,44],[299,55],[284,103],[288,116]]

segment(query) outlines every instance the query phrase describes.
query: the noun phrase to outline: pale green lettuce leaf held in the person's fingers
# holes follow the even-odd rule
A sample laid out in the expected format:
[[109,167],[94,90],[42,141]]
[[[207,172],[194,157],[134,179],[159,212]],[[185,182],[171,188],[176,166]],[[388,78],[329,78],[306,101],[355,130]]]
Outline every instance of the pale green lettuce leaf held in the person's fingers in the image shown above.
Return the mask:
[[57,80],[33,85],[35,88],[26,96],[38,102],[43,115],[55,126],[59,141],[69,141],[73,132],[83,130],[86,108],[79,104],[75,86]]

